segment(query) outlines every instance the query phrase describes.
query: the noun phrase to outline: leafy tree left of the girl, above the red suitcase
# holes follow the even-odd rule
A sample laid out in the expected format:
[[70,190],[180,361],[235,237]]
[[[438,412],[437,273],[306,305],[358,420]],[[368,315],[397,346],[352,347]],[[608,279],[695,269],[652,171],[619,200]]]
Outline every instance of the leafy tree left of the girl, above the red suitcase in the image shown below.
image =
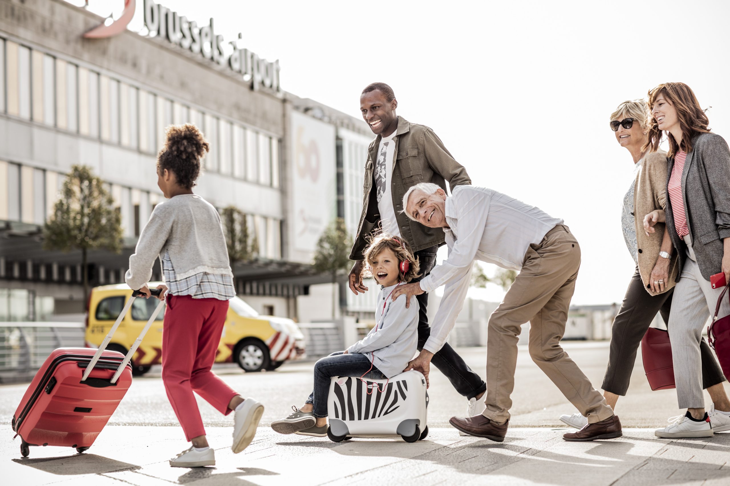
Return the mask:
[[88,252],[122,251],[122,216],[104,181],[86,165],[74,165],[66,176],[53,215],[43,227],[45,250],[81,251],[84,302],[88,297]]

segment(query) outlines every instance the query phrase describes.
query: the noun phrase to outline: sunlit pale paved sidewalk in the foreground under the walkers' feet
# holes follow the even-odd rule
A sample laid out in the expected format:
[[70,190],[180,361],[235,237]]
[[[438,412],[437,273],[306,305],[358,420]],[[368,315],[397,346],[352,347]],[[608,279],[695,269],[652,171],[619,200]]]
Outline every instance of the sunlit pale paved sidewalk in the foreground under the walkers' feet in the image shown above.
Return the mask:
[[[707,439],[657,439],[653,430],[626,429],[620,439],[564,442],[566,429],[510,428],[499,444],[436,428],[414,444],[399,438],[353,439],[276,434],[259,428],[239,455],[231,428],[208,428],[217,466],[171,468],[167,458],[187,447],[177,427],[108,426],[83,454],[31,447],[20,439],[0,446],[6,485],[728,485],[730,433]],[[5,482],[5,481],[8,482]]]

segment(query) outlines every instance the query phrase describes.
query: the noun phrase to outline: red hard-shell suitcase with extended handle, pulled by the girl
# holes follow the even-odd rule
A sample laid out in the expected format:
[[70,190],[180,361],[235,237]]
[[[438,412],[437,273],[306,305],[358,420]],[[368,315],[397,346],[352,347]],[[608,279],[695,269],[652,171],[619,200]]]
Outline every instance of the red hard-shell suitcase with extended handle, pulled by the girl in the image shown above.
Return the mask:
[[83,452],[107,425],[132,383],[129,360],[164,305],[157,306],[127,356],[105,350],[137,295],[135,291],[127,301],[99,349],[58,348],[46,358],[12,416],[23,457],[31,445],[75,447]]

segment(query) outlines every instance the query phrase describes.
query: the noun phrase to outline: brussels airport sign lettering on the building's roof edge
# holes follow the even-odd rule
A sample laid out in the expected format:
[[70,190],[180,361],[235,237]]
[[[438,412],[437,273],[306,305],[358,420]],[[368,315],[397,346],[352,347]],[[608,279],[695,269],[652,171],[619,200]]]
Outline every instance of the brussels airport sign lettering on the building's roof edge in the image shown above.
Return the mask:
[[[150,36],[166,37],[169,42],[191,50],[208,60],[213,60],[220,66],[228,65],[231,71],[241,74],[243,79],[250,81],[251,89],[258,90],[264,86],[280,92],[279,61],[273,63],[261,59],[254,52],[239,49],[235,42],[233,53],[226,55],[223,52],[223,36],[216,35],[213,28],[213,19],[207,26],[199,27],[194,21],[189,21],[184,15],[177,15],[167,7],[155,4],[153,0],[145,0],[145,26]],[[238,34],[239,39],[241,34]]]

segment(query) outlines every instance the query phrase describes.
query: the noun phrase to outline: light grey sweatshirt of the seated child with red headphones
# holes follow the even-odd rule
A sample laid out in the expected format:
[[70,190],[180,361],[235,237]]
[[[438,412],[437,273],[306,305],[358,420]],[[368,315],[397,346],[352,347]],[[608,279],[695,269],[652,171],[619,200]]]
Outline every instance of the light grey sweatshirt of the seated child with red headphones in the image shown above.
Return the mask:
[[[383,287],[377,296],[375,322],[368,335],[347,348],[347,353],[361,353],[388,378],[403,372],[418,347],[418,299],[411,297],[406,307],[406,296],[399,296],[395,302],[389,297],[396,286]],[[385,312],[383,312],[385,304]]]

